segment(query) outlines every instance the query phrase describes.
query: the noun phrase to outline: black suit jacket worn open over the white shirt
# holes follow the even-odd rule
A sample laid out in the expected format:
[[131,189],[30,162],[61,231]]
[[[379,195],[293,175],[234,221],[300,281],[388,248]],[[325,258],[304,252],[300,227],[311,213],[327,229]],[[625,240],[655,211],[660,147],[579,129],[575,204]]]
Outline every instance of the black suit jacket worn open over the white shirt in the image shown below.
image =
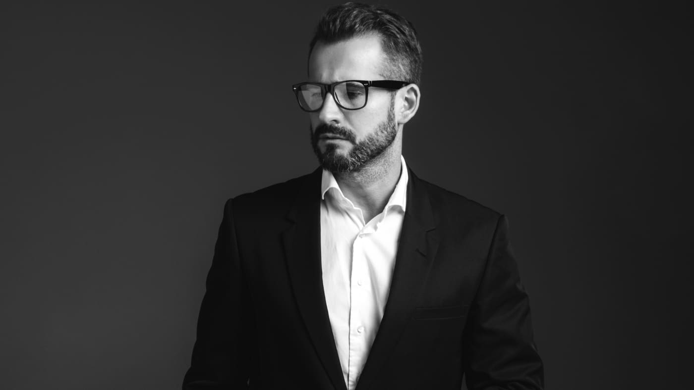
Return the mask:
[[[184,389],[346,389],[321,277],[321,170],[228,200]],[[357,390],[541,389],[503,215],[418,179]]]

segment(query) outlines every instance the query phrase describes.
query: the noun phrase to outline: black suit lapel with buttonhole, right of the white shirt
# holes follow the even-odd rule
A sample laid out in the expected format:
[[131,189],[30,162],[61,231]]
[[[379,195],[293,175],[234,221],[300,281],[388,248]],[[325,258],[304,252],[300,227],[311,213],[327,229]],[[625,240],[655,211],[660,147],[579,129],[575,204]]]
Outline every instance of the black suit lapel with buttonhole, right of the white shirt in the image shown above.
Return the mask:
[[358,390],[369,388],[378,375],[380,366],[389,359],[407,321],[412,318],[438,244],[427,191],[421,180],[409,170],[407,210],[400,232],[388,301],[369,357],[359,377]]

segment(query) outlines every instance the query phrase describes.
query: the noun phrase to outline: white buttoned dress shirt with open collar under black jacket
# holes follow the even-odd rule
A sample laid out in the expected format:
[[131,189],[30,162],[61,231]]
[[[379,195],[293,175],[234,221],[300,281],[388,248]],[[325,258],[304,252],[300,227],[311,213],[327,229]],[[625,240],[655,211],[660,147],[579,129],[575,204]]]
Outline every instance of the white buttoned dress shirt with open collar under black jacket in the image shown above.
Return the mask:
[[332,173],[321,181],[321,265],[332,335],[348,390],[357,386],[388,300],[407,201],[407,166],[383,211],[364,221]]

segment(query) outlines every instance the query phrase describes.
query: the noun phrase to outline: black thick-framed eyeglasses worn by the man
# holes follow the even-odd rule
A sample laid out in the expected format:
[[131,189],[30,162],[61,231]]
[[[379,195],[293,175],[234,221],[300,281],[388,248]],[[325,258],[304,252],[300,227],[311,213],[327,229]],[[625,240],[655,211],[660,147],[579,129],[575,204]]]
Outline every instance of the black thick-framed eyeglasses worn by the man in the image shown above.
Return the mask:
[[409,83],[394,80],[345,80],[323,84],[321,82],[300,82],[292,85],[299,107],[305,112],[316,112],[325,102],[325,96],[332,94],[335,103],[344,109],[360,109],[366,106],[369,87],[400,89]]

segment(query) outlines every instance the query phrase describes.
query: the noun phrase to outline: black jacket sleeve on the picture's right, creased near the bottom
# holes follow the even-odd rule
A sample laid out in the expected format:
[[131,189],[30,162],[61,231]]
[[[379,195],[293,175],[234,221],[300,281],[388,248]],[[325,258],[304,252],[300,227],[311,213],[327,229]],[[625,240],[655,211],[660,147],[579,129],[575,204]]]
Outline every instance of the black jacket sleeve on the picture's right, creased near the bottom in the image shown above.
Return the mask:
[[511,253],[504,215],[497,221],[463,337],[468,390],[543,389],[530,303]]

